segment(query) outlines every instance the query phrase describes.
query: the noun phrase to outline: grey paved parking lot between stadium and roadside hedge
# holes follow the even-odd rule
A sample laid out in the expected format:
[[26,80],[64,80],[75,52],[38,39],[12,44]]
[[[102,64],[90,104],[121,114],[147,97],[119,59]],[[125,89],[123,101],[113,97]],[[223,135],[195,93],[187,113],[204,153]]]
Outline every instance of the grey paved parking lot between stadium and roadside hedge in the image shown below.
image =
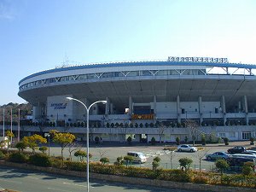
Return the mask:
[[[133,166],[142,166],[142,167],[152,167],[152,161],[155,156],[160,157],[160,167],[162,168],[178,168],[179,163],[178,160],[184,157],[188,157],[193,160],[192,168],[199,169],[200,159],[201,159],[201,169],[202,170],[210,170],[214,167],[214,161],[206,160],[206,154],[212,154],[217,151],[224,151],[226,152],[228,148],[232,148],[234,146],[244,146],[246,148],[251,147],[249,141],[246,142],[230,142],[230,145],[226,146],[224,143],[217,143],[217,144],[207,144],[203,147],[203,150],[197,151],[195,153],[190,152],[174,152],[171,154],[169,151],[163,150],[165,147],[177,147],[176,145],[172,144],[162,144],[152,146],[149,144],[136,144],[133,143],[132,145],[128,145],[127,143],[101,143],[99,145],[91,144],[90,145],[90,154],[92,154],[92,158],[90,160],[98,161],[101,159],[102,156],[108,157],[110,162],[113,163],[116,161],[117,157],[125,156],[129,151],[136,151],[136,152],[143,152],[147,156],[147,162],[144,164],[136,164],[134,163]],[[196,147],[202,147],[201,145],[195,145]],[[86,150],[86,148],[82,148]],[[50,147],[50,154],[59,156],[61,155],[61,148],[59,147]],[[67,148],[64,149],[65,157],[68,157],[68,150]],[[172,159],[172,164],[171,164]],[[77,160],[76,157],[73,156],[73,160]]]

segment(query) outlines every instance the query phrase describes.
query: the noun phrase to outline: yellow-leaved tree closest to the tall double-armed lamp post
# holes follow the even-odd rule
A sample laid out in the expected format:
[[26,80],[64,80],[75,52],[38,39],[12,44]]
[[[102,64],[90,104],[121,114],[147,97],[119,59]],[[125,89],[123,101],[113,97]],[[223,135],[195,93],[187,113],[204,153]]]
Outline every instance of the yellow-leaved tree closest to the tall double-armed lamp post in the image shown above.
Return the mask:
[[76,137],[73,134],[69,133],[69,132],[61,133],[61,132],[56,132],[55,131],[53,133],[52,141],[54,143],[61,144],[61,157],[62,158],[63,158],[63,150],[64,150],[64,148],[66,148],[68,144],[73,143],[75,138]]

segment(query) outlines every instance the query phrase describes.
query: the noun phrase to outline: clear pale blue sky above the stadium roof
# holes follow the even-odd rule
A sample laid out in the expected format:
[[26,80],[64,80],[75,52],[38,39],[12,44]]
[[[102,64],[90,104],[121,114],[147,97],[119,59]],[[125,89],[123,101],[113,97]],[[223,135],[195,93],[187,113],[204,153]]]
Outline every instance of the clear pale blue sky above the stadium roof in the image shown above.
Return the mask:
[[0,0],[0,105],[68,64],[224,57],[256,65],[255,0]]

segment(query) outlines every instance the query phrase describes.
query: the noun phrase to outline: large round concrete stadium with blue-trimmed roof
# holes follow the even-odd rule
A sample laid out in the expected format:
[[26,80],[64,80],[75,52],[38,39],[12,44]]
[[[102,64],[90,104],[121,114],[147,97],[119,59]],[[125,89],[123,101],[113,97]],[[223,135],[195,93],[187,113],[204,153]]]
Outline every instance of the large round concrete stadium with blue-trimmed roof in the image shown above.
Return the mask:
[[[191,139],[186,122],[197,122],[196,139],[256,137],[256,65],[226,58],[168,57],[56,67],[20,80],[19,96],[33,105],[37,127],[73,132],[84,139],[85,108],[90,108],[90,139],[123,142],[175,142]],[[211,136],[211,138],[210,138]]]

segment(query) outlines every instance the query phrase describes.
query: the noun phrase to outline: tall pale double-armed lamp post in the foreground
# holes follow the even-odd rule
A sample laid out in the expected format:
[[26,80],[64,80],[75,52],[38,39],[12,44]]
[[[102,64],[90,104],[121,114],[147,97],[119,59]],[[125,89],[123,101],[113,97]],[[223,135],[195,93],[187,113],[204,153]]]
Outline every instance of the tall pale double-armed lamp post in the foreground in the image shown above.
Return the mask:
[[66,97],[67,98],[67,100],[73,100],[73,101],[76,101],[76,102],[80,102],[83,106],[84,106],[84,108],[86,109],[86,116],[87,116],[87,123],[86,123],[86,125],[87,125],[87,127],[86,127],[86,131],[87,131],[87,133],[86,133],[86,148],[87,148],[87,158],[86,158],[86,163],[87,163],[87,166],[86,166],[86,173],[87,173],[87,192],[89,192],[89,112],[90,112],[90,108],[94,105],[94,104],[96,104],[96,103],[98,103],[98,102],[102,102],[103,104],[106,104],[107,103],[107,101],[97,101],[97,102],[93,102],[93,103],[91,103],[90,104],[90,106],[89,106],[89,108],[87,108],[87,106],[84,104],[84,102],[81,102],[81,101],[79,101],[78,99],[75,99],[75,98],[73,98],[73,97]]

